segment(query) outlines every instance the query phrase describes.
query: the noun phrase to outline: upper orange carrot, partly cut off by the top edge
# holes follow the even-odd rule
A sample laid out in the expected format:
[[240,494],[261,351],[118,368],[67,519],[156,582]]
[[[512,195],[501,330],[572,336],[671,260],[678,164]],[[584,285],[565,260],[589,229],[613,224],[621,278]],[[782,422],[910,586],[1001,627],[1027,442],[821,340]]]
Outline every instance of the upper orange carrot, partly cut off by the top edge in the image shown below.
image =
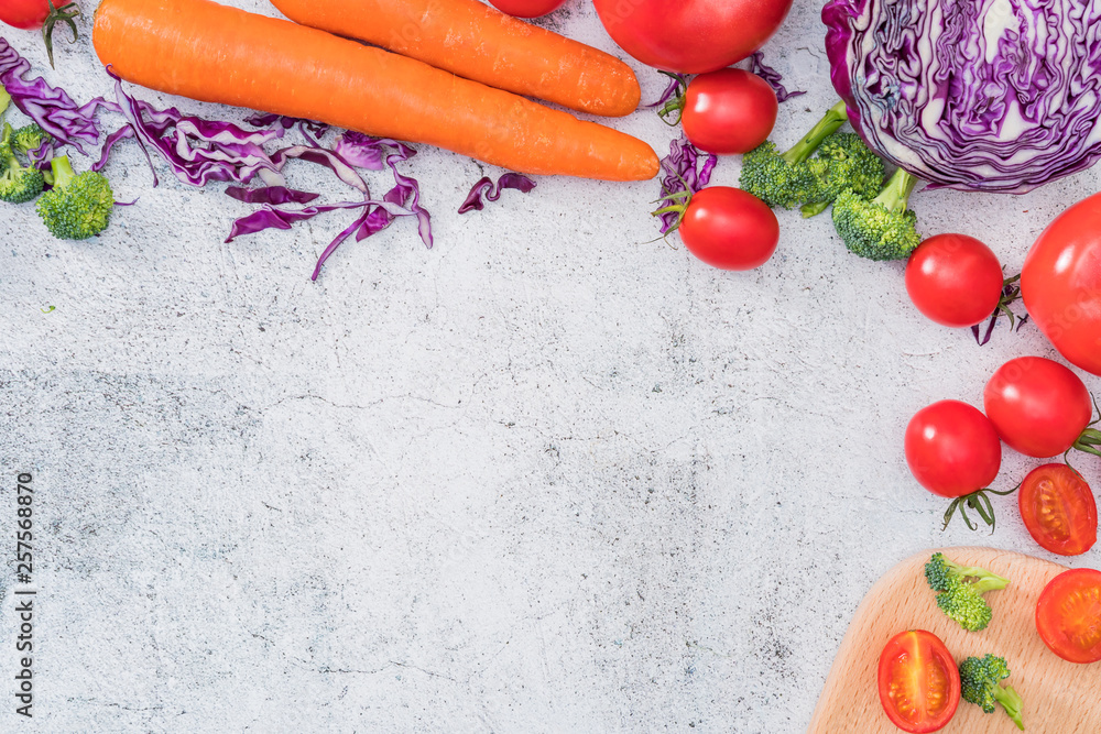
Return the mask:
[[479,0],[271,0],[291,20],[461,77],[593,114],[639,107],[634,72],[614,56]]

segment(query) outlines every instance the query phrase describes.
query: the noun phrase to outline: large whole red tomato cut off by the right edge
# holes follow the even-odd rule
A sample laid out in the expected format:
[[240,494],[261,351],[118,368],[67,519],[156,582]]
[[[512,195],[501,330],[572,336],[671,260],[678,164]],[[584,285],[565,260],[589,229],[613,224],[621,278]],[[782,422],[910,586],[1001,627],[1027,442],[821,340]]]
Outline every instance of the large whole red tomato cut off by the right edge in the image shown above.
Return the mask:
[[1101,375],[1101,194],[1039,235],[1021,271],[1021,296],[1068,362]]

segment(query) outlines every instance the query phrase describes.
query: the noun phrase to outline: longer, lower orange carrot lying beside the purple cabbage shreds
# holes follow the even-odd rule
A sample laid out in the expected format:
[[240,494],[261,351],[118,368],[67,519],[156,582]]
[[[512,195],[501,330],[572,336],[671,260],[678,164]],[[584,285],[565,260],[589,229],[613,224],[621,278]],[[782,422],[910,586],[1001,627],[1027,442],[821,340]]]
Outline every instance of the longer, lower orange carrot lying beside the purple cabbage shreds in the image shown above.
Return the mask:
[[608,180],[657,174],[646,143],[422,62],[210,0],[103,0],[100,61],[192,99],[438,145],[505,168]]

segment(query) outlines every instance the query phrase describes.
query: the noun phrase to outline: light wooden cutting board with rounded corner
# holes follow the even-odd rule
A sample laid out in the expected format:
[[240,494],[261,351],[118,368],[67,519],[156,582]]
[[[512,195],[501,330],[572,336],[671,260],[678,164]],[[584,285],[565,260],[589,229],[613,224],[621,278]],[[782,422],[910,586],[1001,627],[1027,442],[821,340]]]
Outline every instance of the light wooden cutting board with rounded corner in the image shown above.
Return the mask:
[[[990,626],[967,632],[937,609],[925,580],[925,562],[936,550],[907,558],[875,582],[860,603],[833,659],[808,734],[897,734],[883,713],[876,669],[883,646],[905,629],[934,633],[959,662],[993,653],[1005,658],[1004,681],[1024,699],[1031,734],[1101,734],[1101,662],[1077,665],[1051,653],[1036,632],[1036,600],[1047,582],[1066,570],[1050,561],[993,548],[942,548],[962,566],[979,566],[1010,579],[985,594],[994,611]],[[1001,706],[985,714],[960,701],[944,734],[1017,732]]]

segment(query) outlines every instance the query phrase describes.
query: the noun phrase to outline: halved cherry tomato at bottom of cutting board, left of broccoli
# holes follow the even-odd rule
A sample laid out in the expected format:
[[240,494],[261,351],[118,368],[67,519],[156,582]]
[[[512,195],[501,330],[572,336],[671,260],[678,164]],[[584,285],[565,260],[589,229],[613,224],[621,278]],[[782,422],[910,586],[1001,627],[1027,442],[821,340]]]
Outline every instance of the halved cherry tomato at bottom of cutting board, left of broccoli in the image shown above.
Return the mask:
[[942,728],[960,702],[960,672],[940,638],[925,629],[901,632],[880,655],[880,703],[891,723],[920,734]]

